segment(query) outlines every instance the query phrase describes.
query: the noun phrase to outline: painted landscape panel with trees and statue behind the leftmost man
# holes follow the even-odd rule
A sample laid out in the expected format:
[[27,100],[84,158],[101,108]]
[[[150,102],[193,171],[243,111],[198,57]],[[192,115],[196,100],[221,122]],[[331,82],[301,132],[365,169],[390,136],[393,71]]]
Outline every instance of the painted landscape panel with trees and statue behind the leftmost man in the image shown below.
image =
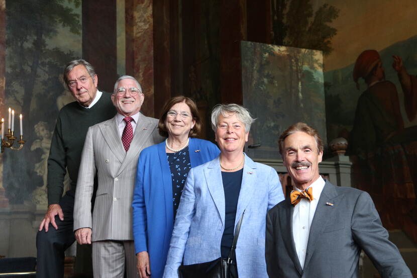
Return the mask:
[[[63,65],[81,56],[80,0],[6,3],[6,105],[24,115],[20,151],[6,149],[3,186],[10,204],[46,205],[47,156],[58,111],[73,101]],[[19,133],[15,133],[19,135]]]

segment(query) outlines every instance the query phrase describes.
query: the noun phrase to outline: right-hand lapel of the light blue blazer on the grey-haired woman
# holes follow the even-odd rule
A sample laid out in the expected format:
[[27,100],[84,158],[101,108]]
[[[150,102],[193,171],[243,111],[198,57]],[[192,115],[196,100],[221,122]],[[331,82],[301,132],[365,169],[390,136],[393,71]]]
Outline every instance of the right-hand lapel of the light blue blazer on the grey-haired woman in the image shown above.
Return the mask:
[[248,206],[249,201],[252,199],[253,191],[255,190],[256,182],[256,164],[245,154],[245,164],[243,166],[242,173],[242,185],[239,193],[238,207],[236,210],[235,227],[242,216],[243,211]]

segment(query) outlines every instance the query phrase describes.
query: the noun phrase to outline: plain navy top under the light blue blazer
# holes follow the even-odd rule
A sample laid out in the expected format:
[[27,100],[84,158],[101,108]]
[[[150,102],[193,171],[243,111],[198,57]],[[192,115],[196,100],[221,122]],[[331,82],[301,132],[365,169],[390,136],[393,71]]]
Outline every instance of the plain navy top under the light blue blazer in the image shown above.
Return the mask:
[[[236,211],[238,208],[238,200],[240,187],[242,185],[243,168],[236,172],[223,172],[223,189],[225,191],[225,230],[222,236],[220,250],[222,258],[229,256],[230,248],[232,248],[233,237],[235,232]],[[233,261],[236,264],[236,260]]]

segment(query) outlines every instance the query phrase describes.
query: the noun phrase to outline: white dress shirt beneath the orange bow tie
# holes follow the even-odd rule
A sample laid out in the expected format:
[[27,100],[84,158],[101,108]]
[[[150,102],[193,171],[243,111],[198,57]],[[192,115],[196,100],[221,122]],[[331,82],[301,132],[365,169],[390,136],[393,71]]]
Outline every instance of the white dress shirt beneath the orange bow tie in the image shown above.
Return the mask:
[[[294,206],[292,213],[292,236],[294,238],[295,251],[297,252],[298,260],[302,268],[304,268],[305,251],[307,249],[311,221],[316,212],[324,186],[325,180],[322,176],[319,176],[309,186],[309,188],[312,188],[313,200],[310,202],[305,198],[301,198],[301,201]],[[295,187],[294,190],[301,191]]]

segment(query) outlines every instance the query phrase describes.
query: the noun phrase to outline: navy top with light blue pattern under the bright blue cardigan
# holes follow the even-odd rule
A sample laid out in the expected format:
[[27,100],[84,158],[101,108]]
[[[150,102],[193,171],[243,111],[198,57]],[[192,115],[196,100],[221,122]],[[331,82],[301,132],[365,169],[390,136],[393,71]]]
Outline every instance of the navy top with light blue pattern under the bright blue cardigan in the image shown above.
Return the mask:
[[172,178],[172,202],[174,205],[174,220],[177,214],[179,199],[187,179],[188,171],[191,169],[188,146],[178,152],[166,153]]

